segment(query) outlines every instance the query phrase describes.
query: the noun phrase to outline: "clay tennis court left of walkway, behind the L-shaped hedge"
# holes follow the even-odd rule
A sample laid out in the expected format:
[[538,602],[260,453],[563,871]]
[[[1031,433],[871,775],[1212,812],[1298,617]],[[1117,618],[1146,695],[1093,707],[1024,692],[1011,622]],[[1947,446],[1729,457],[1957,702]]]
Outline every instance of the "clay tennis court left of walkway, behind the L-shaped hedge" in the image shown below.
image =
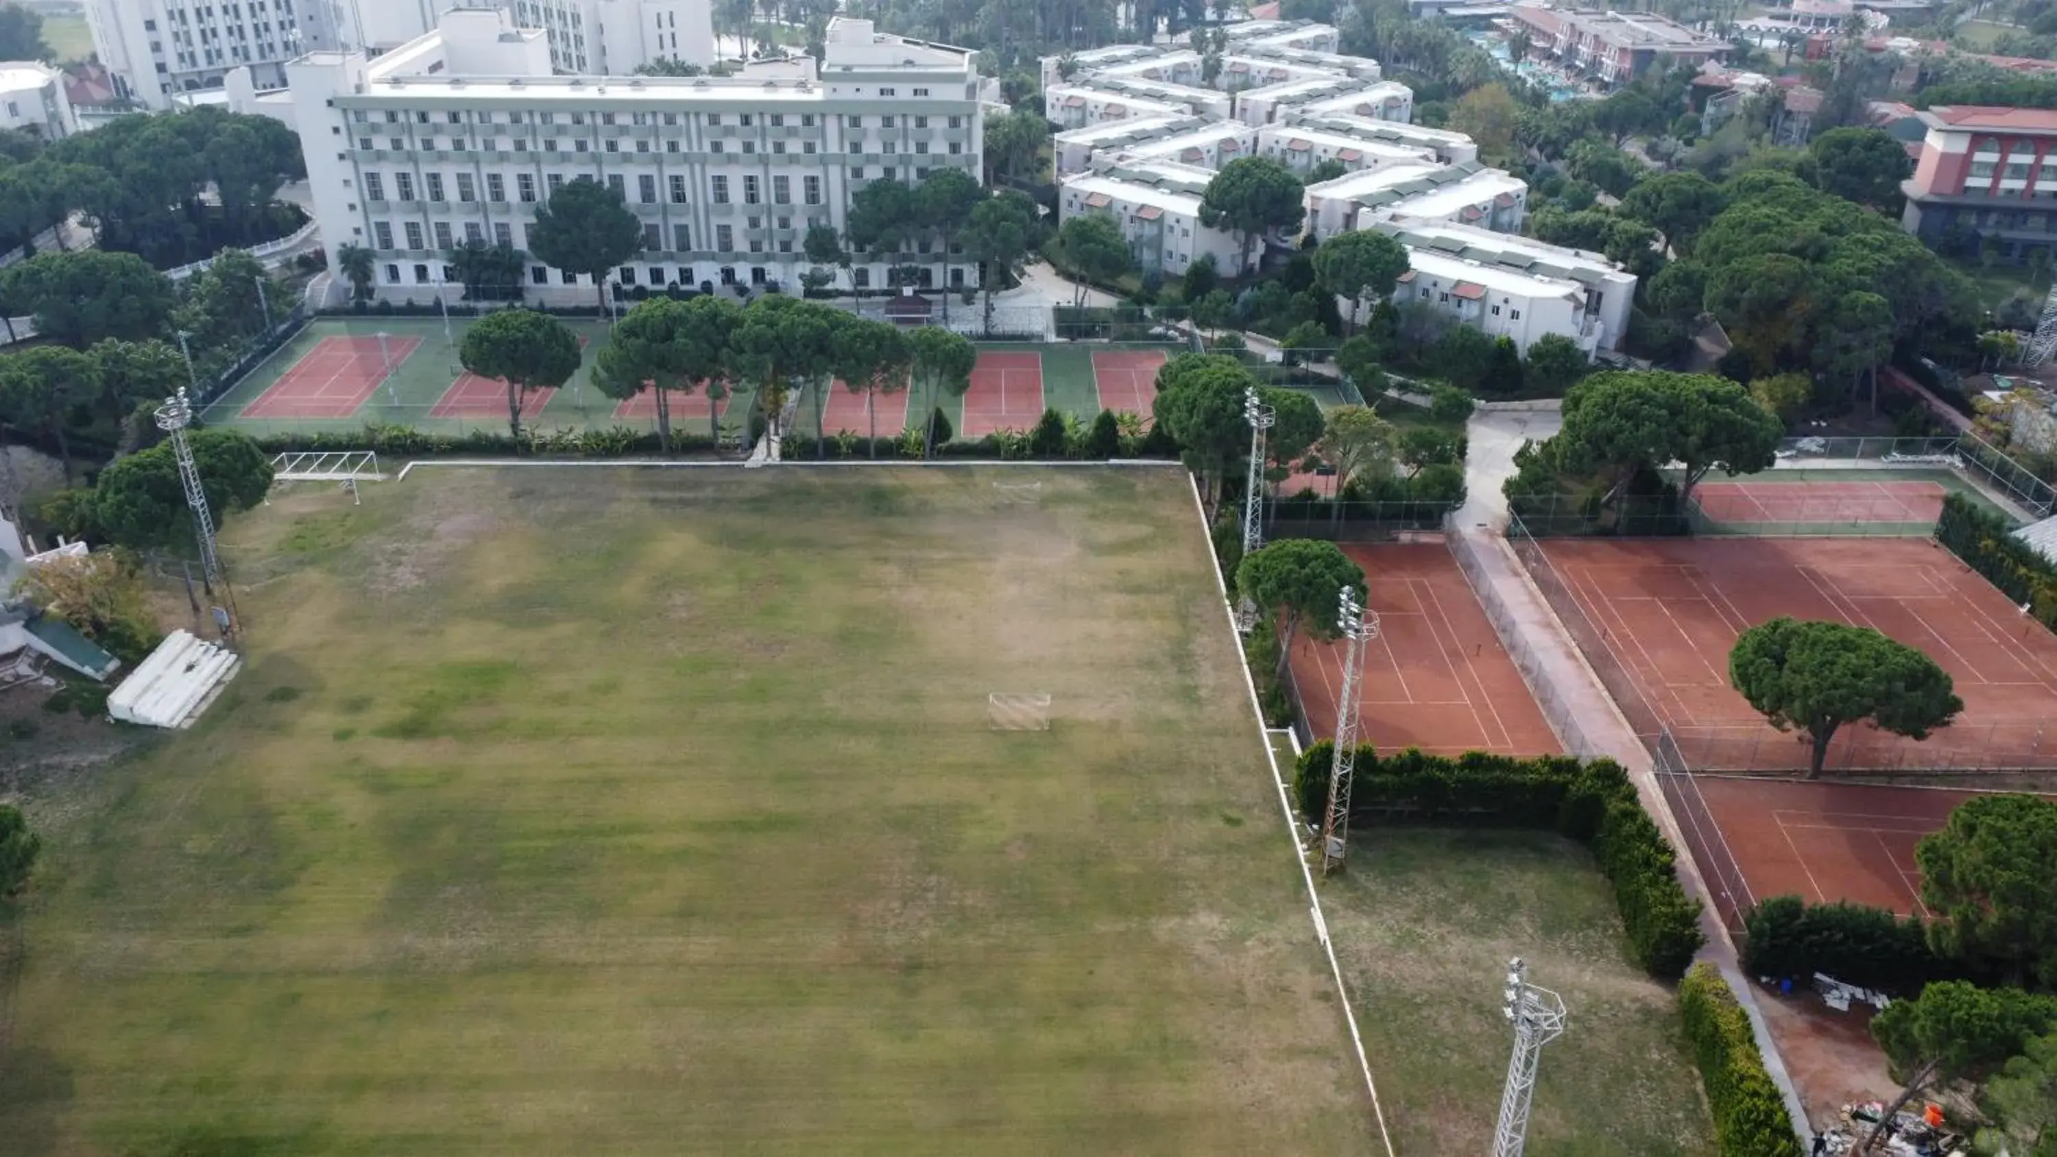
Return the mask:
[[[1382,752],[1555,754],[1522,674],[1456,569],[1450,549],[1421,545],[1343,547],[1370,588],[1378,637],[1364,649],[1358,693],[1364,742]],[[1314,738],[1335,734],[1343,643],[1294,641],[1292,676]]]

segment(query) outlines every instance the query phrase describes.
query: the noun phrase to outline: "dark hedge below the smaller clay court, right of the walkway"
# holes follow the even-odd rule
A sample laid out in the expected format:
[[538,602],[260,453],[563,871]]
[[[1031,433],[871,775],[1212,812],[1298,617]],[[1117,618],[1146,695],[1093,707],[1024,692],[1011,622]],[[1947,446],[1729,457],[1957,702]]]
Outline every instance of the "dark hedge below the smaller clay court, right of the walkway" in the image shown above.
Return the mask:
[[1825,972],[1894,997],[1913,997],[1929,980],[1952,976],[1929,951],[1921,917],[1903,919],[1890,908],[1773,896],[1751,908],[1742,927],[1742,970],[1751,976]]

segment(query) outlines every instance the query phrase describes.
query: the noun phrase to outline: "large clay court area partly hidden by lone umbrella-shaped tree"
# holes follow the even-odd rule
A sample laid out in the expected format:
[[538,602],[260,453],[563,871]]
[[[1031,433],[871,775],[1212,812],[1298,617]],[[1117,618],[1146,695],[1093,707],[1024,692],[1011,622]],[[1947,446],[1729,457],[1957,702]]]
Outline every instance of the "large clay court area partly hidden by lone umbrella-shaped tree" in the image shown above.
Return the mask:
[[[1728,686],[1744,629],[1788,614],[1874,627],[1932,656],[1964,699],[1925,742],[1843,727],[1831,771],[2057,767],[2057,637],[1925,538],[1545,540],[1524,563],[1646,742],[1695,771],[1804,771],[1806,748]],[[1551,577],[1555,575],[1555,577]],[[1582,629],[1584,617],[1594,627]],[[2045,730],[2049,727],[2049,734]],[[1662,752],[1660,752],[1662,754]]]

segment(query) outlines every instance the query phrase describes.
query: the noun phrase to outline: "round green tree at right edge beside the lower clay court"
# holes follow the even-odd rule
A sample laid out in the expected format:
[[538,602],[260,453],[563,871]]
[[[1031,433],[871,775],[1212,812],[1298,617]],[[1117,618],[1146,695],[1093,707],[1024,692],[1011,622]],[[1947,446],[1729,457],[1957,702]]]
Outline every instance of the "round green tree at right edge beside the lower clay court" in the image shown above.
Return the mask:
[[2057,988],[2057,801],[1975,795],[1915,845],[1938,951]]

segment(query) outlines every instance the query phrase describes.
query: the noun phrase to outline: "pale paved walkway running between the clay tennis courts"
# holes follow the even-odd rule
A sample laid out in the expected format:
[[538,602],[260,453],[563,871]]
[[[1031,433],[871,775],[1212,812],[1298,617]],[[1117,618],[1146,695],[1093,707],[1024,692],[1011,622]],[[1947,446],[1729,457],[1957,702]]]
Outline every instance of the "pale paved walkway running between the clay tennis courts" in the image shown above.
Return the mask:
[[[1728,978],[1728,986],[1736,991],[1736,1001],[1742,1003],[1742,1011],[1751,1019],[1751,1030],[1757,1034],[1757,1048],[1765,1056],[1765,1069],[1785,1095],[1785,1112],[1792,1114],[1794,1128],[1800,1132],[1804,1145],[1812,1136],[1808,1132],[1806,1106],[1800,1102],[1800,1093],[1785,1073],[1785,1062],[1771,1040],[1765,1015],[1757,1007],[1757,991],[1736,964],[1736,943],[1713,915],[1711,894],[1699,875],[1699,865],[1693,863],[1681,838],[1679,820],[1658,789],[1650,752],[1600,686],[1600,678],[1572,643],[1572,635],[1557,621],[1557,612],[1543,600],[1543,592],[1537,590],[1504,536],[1506,499],[1500,495],[1500,483],[1514,473],[1514,450],[1520,448],[1522,438],[1547,436],[1541,434],[1541,425],[1524,425],[1545,413],[1481,411],[1473,415],[1467,430],[1471,446],[1465,460],[1465,483],[1471,497],[1456,516],[1454,532],[1460,540],[1452,543],[1452,547],[1471,559],[1473,567],[1467,569],[1473,582],[1483,586],[1479,598],[1487,604],[1487,617],[1504,635],[1508,651],[1516,656],[1516,664],[1522,668],[1537,705],[1543,707],[1551,727],[1557,730],[1557,738],[1574,754],[1607,754],[1625,767],[1644,810],[1656,818],[1672,847],[1679,849],[1681,884],[1685,884],[1689,896],[1699,898],[1699,923],[1707,935],[1707,947],[1701,949],[1699,960],[1716,964]],[[1553,425],[1549,430],[1555,432]]]

